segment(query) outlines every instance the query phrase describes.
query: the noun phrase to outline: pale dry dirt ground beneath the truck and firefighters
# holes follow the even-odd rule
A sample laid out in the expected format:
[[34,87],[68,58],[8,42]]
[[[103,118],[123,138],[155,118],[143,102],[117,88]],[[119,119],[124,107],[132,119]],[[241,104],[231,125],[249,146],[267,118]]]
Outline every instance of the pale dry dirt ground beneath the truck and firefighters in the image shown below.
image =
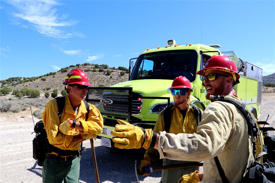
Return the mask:
[[[268,114],[269,126],[274,127],[275,94],[264,93],[262,98],[262,115],[259,120],[266,120]],[[35,109],[32,109],[33,111]],[[34,118],[34,122],[38,122]],[[42,182],[42,167],[32,158],[32,140],[35,134],[34,123],[30,111],[20,113],[0,113],[0,182]],[[270,132],[274,135],[274,131]],[[100,140],[94,141],[99,179],[102,183],[134,183],[134,162],[139,163],[144,150],[112,151],[100,145]],[[81,182],[96,182],[91,145],[84,142],[87,148],[80,161]],[[160,166],[161,160],[152,166]],[[141,183],[158,183],[161,172],[150,176],[139,176]]]

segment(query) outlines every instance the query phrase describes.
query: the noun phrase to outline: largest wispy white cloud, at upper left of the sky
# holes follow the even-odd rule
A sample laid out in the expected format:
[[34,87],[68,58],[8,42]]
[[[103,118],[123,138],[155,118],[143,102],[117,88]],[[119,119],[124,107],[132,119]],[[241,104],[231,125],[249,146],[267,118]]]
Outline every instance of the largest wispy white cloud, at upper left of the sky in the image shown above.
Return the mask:
[[[61,27],[71,26],[76,21],[65,19],[68,15],[58,17],[56,5],[61,5],[60,1],[6,1],[16,7],[13,16],[26,20],[34,26],[41,34],[56,38],[72,37],[72,33],[60,30]],[[18,23],[18,20],[15,20]],[[22,25],[26,26],[26,25]]]

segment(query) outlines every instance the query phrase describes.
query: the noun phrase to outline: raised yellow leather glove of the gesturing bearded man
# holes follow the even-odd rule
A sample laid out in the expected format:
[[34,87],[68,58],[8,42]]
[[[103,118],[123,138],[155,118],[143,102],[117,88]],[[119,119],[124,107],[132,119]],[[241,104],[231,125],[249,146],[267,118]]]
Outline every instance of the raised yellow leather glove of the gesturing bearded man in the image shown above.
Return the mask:
[[117,122],[119,125],[117,124],[115,130],[111,131],[116,148],[139,149],[143,147],[147,149],[150,147],[153,136],[152,129],[142,129],[122,120],[117,120]]

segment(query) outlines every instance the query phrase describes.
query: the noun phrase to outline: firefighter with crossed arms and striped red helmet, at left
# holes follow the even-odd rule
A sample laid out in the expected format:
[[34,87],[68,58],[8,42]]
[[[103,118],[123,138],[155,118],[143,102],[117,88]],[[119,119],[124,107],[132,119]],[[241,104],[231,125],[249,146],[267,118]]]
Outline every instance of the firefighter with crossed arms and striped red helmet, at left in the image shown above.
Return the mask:
[[58,112],[56,100],[50,100],[42,114],[49,143],[57,148],[45,155],[43,182],[79,182],[80,144],[102,133],[103,119],[92,104],[89,104],[89,116],[86,118],[83,100],[87,87],[92,86],[86,73],[73,69],[63,84],[68,96],[65,97],[62,113]]

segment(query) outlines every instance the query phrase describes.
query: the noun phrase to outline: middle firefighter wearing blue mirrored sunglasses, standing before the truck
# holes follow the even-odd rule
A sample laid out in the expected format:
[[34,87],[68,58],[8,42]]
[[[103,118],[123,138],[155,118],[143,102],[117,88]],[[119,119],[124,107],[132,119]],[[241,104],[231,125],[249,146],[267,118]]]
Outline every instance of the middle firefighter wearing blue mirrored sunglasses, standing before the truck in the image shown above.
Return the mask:
[[[178,133],[187,133],[193,134],[197,131],[197,122],[196,116],[192,107],[189,105],[190,103],[190,93],[193,91],[191,87],[190,81],[186,77],[176,77],[174,79],[170,90],[174,99],[174,106],[172,108],[166,108],[166,110],[170,110],[169,113],[172,113],[171,118],[169,115],[169,122],[165,122],[163,110],[156,121],[156,125],[154,127],[153,132],[162,132],[166,131],[172,134]],[[200,114],[202,111],[200,111]],[[168,130],[169,129],[169,130]],[[139,166],[140,172],[142,172],[142,168],[148,167],[151,164],[151,160],[155,160],[155,156],[158,153],[158,150],[153,147],[149,147],[144,155],[144,160],[141,160],[141,164]],[[180,161],[180,160],[170,160],[167,158],[163,159],[163,165],[172,165],[172,164],[182,164],[182,163],[192,163],[190,161]],[[193,162],[194,163],[194,162]],[[190,172],[195,172],[199,170],[199,167],[190,167],[190,168],[177,168],[170,170],[162,170],[162,178],[160,180],[161,183],[174,183],[178,182],[179,178],[185,174],[189,174]],[[144,175],[149,175],[148,172],[144,173]]]

